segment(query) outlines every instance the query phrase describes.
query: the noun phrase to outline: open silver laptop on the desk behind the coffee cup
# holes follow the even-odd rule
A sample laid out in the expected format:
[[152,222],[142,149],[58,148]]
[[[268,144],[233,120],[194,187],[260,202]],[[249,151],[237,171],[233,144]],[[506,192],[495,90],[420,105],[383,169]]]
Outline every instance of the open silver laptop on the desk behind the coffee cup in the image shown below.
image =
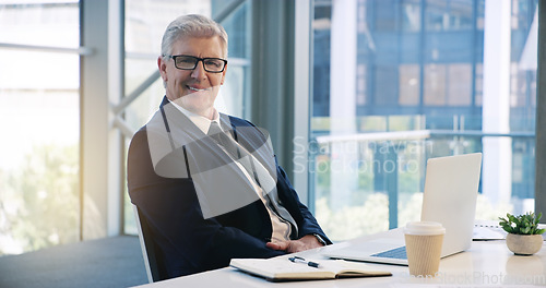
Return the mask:
[[[482,153],[430,158],[427,161],[420,219],[446,228],[441,256],[472,244]],[[332,259],[407,265],[403,227],[324,249]]]

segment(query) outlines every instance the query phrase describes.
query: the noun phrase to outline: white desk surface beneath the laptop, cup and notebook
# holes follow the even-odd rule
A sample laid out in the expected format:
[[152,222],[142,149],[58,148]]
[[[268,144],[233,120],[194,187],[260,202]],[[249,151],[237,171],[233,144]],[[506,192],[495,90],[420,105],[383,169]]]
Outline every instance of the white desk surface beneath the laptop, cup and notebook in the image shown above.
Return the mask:
[[[336,245],[336,244],[334,244]],[[320,253],[323,249],[310,250],[301,255]],[[235,268],[200,273],[142,287],[473,287],[473,286],[546,286],[546,247],[532,256],[517,256],[503,240],[474,241],[465,252],[442,259],[439,276],[423,279],[410,276],[407,266],[370,264],[390,271],[392,277],[345,278],[336,280],[271,283],[244,274]]]

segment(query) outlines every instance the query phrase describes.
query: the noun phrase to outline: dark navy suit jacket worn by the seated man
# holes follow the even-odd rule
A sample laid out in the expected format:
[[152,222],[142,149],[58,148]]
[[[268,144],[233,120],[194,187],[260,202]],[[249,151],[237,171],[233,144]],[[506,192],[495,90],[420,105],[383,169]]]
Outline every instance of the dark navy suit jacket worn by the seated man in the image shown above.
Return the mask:
[[[234,257],[272,257],[284,254],[265,247],[271,240],[272,226],[266,207],[260,200],[222,215],[203,216],[194,181],[188,169],[194,170],[191,168],[192,160],[198,163],[194,165],[199,165],[213,163],[225,156],[207,151],[209,142],[205,137],[176,143],[176,136],[173,140],[170,134],[182,139],[204,134],[183,113],[173,108],[164,98],[156,115],[134,134],[128,155],[131,202],[140,208],[152,230],[168,277],[225,267]],[[166,116],[166,110],[170,117]],[[252,123],[235,117],[223,117],[228,118],[237,142],[249,151],[254,151],[256,146],[265,142],[264,134]],[[168,132],[168,135],[151,136],[164,132]],[[153,146],[164,147],[166,152],[151,153],[151,143]],[[170,151],[165,143],[170,143]],[[210,158],[193,159],[192,152],[197,149],[205,149],[206,153],[201,155],[209,155]],[[168,167],[164,169],[166,171],[161,171],[164,163],[170,165],[165,166]],[[276,161],[274,169],[278,199],[298,226],[297,235],[292,238],[318,233],[331,243],[316,218],[299,201],[285,171]],[[234,177],[234,181],[241,181],[236,178]]]

